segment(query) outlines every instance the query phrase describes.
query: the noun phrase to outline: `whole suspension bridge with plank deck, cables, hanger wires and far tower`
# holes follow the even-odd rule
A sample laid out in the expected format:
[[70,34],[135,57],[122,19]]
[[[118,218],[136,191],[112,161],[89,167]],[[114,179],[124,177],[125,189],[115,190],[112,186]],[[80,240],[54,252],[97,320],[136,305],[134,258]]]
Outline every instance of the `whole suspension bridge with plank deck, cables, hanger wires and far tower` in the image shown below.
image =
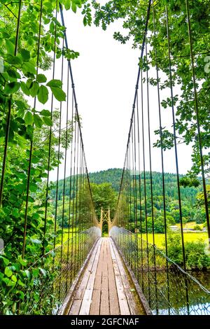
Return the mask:
[[[188,1],[186,1],[186,26],[188,27],[188,42],[190,53],[188,58],[193,70],[193,90],[195,101],[197,95],[197,83],[195,80],[195,56],[193,50],[192,27],[190,25],[190,11]],[[24,22],[27,3],[22,7],[22,1],[16,4],[18,9],[15,50],[14,57],[19,56],[18,38],[22,32],[22,22]],[[47,5],[46,5],[47,6]],[[39,54],[43,51],[43,15],[46,10],[45,1],[39,1],[36,11],[39,13],[38,29],[36,34],[36,73],[34,78],[40,73]],[[10,312],[13,314],[210,314],[210,292],[202,286],[200,281],[195,279],[193,274],[188,272],[186,267],[185,242],[183,235],[183,214],[181,202],[181,188],[179,184],[179,161],[176,138],[176,111],[174,105],[174,82],[172,80],[172,55],[171,55],[171,27],[169,25],[169,13],[165,7],[165,25],[168,57],[168,70],[171,78],[167,81],[170,97],[169,103],[172,110],[172,123],[174,127],[173,143],[174,156],[176,162],[177,191],[179,204],[179,221],[181,224],[181,246],[182,246],[182,266],[177,265],[168,255],[167,248],[167,208],[165,197],[165,157],[162,146],[162,105],[160,94],[160,69],[159,58],[160,48],[153,45],[155,52],[155,89],[158,95],[158,104],[151,109],[149,71],[151,66],[148,54],[151,51],[149,36],[147,34],[148,25],[153,26],[153,34],[156,33],[155,22],[156,6],[152,1],[148,1],[145,15],[145,29],[142,35],[142,45],[140,62],[146,61],[144,66],[139,65],[137,72],[137,83],[134,88],[134,102],[132,104],[132,116],[130,130],[127,139],[125,162],[123,175],[120,183],[118,204],[116,214],[111,218],[109,209],[102,209],[101,217],[97,218],[94,211],[90,179],[87,171],[86,156],[84,151],[80,116],[78,113],[78,102],[76,99],[76,88],[73,80],[71,60],[64,56],[69,49],[62,5],[57,1],[54,11],[54,38],[51,40],[51,50],[54,53],[52,60],[52,80],[62,81],[66,101],[59,102],[55,99],[55,94],[50,99],[50,118],[53,119],[55,108],[58,109],[58,127],[54,133],[52,127],[48,130],[48,144],[45,144],[44,152],[48,161],[42,163],[45,166],[45,193],[41,197],[41,205],[36,202],[36,195],[31,190],[31,186],[36,183],[36,172],[38,170],[37,149],[34,146],[34,139],[28,130],[29,143],[25,146],[27,151],[27,166],[20,170],[20,181],[22,182],[21,193],[25,195],[24,205],[21,213],[23,220],[22,227],[18,227],[21,232],[18,239],[18,257],[22,259],[21,274],[15,286],[18,286],[18,293],[13,289],[7,291],[10,297]],[[60,18],[59,18],[60,15]],[[57,42],[62,44],[62,55],[57,59]],[[19,58],[19,57],[18,57]],[[14,62],[14,61],[13,61]],[[15,63],[15,62],[14,62]],[[18,62],[16,62],[18,65]],[[27,69],[25,70],[27,71]],[[27,78],[33,77],[25,72]],[[39,76],[41,78],[41,76]],[[56,85],[52,86],[57,87]],[[55,91],[55,90],[54,90]],[[41,97],[41,96],[39,96]],[[59,98],[59,97],[58,97]],[[10,154],[10,131],[14,127],[13,107],[15,102],[14,93],[11,92],[5,98],[4,121],[5,139],[3,144],[3,155],[1,160],[1,190],[0,201],[1,210],[5,211],[5,204],[12,202],[18,194],[5,191],[9,186],[8,166],[13,162]],[[40,98],[39,98],[40,99]],[[34,97],[33,116],[38,113],[38,99]],[[160,158],[162,167],[162,216],[165,223],[165,249],[160,249],[155,244],[155,214],[153,211],[153,172],[151,153],[151,127],[150,119],[154,111],[157,111],[160,127]],[[195,102],[195,117],[197,118],[197,140],[199,145],[199,156],[202,171],[202,188],[204,193],[204,205],[206,209],[207,230],[209,228],[209,208],[207,200],[207,180],[204,176],[204,162],[202,153],[202,134],[200,131],[199,104]],[[66,118],[66,123],[62,127],[62,118]],[[70,124],[69,124],[70,122]],[[22,121],[19,120],[22,124]],[[35,120],[34,120],[35,123]],[[71,131],[69,132],[69,125]],[[36,123],[32,125],[36,131]],[[15,132],[18,134],[20,128],[17,126]],[[64,132],[64,134],[63,134]],[[58,144],[53,145],[55,134]],[[34,137],[35,138],[35,137]],[[44,136],[41,137],[44,143]],[[146,139],[148,143],[146,144]],[[55,146],[56,152],[52,151]],[[18,147],[18,146],[17,146]],[[1,148],[2,151],[2,148]],[[149,162],[149,189],[146,185],[146,153]],[[155,160],[154,160],[155,161]],[[52,162],[57,163],[57,181],[54,183],[54,193],[51,193],[50,170]],[[61,169],[61,162],[64,169]],[[38,165],[37,165],[38,164]],[[59,199],[59,175],[64,171],[62,180],[62,196]],[[67,184],[66,177],[69,177]],[[40,181],[40,177],[39,177]],[[18,184],[15,181],[15,184]],[[68,190],[69,197],[66,197]],[[7,193],[7,194],[6,194]],[[62,200],[60,206],[59,201]],[[36,216],[31,211],[30,204],[35,202],[37,211],[42,216],[43,225],[36,227]],[[66,202],[68,209],[66,210]],[[133,206],[134,204],[134,206]],[[58,227],[58,209],[62,209],[61,229]],[[132,211],[134,211],[134,221],[132,221]],[[67,229],[64,230],[64,221],[67,212]],[[3,214],[6,214],[4,212]],[[14,214],[13,214],[14,215]],[[6,215],[5,215],[6,216]],[[16,215],[14,215],[16,216]],[[17,215],[18,216],[18,215]],[[148,241],[148,217],[152,218],[153,242]],[[15,221],[15,219],[14,219]],[[34,221],[34,222],[33,222]],[[102,237],[102,227],[108,224],[109,237]],[[146,223],[146,238],[143,237],[141,225]],[[16,223],[14,224],[16,225]],[[33,234],[30,235],[31,227]],[[40,230],[43,241],[36,239],[36,230]],[[58,231],[59,237],[58,238]],[[13,234],[17,228],[14,226]],[[35,238],[34,238],[35,236]],[[210,235],[209,235],[210,236]],[[46,240],[50,239],[50,244]],[[29,248],[30,243],[40,244],[38,253],[33,248]],[[10,246],[10,241],[8,242]],[[9,247],[8,247],[9,248]],[[19,249],[20,248],[20,249]],[[207,247],[208,248],[208,247]],[[24,268],[24,259],[31,253],[29,266]],[[32,261],[33,257],[35,258]],[[14,267],[15,265],[13,265]],[[10,271],[14,271],[12,267]],[[8,279],[13,280],[12,274],[8,272]],[[22,276],[21,276],[22,275]],[[15,280],[15,279],[14,279]],[[10,283],[12,286],[12,283]],[[16,291],[16,290],[15,290]],[[5,304],[1,300],[1,313]]]

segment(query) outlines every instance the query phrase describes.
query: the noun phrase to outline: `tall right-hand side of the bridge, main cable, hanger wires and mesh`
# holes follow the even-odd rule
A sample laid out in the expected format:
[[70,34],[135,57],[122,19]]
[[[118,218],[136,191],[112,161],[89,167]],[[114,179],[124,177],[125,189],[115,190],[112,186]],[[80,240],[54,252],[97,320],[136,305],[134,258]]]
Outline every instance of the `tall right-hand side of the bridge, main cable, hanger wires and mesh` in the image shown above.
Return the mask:
[[[155,314],[210,311],[208,272],[202,284],[204,271],[198,280],[189,272],[210,266],[209,155],[205,151],[209,109],[202,99],[208,77],[204,74],[202,80],[198,73],[204,70],[205,45],[200,41],[206,34],[199,22],[196,29],[192,28],[193,6],[188,0],[178,6],[149,0],[147,12],[138,9],[142,37],[139,69],[118,206],[110,232]],[[178,18],[183,28],[181,48],[174,42],[181,29],[181,25],[175,29]],[[183,68],[187,70],[187,83],[179,71]],[[193,132],[190,139],[186,138],[188,132]],[[184,167],[190,142],[194,163],[192,172],[183,177],[180,165]],[[181,144],[186,144],[185,148],[180,149]],[[174,181],[167,172],[175,173]],[[206,241],[193,241],[192,245],[184,232],[186,186],[189,193],[190,188],[200,186],[197,192],[202,201],[190,207],[198,211],[202,208],[207,228],[203,235]],[[176,218],[171,216],[172,211]],[[192,213],[188,219],[191,217]],[[176,221],[177,232],[172,232],[172,221]]]

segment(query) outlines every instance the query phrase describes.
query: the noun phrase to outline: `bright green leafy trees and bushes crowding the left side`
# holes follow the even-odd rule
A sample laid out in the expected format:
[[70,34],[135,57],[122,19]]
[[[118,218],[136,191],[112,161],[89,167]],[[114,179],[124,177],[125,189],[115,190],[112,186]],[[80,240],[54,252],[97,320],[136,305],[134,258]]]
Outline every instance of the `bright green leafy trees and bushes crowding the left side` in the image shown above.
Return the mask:
[[[86,1],[59,2],[66,7],[71,3],[71,9],[76,12]],[[0,237],[4,240],[4,251],[0,256],[0,309],[3,314],[18,314],[20,304],[25,304],[29,298],[34,304],[36,314],[45,314],[45,309],[49,305],[52,307],[50,296],[46,301],[48,305],[38,307],[41,291],[33,290],[33,287],[43,284],[44,280],[53,281],[54,274],[50,269],[53,256],[41,259],[43,247],[48,253],[53,248],[55,237],[54,208],[52,202],[46,200],[46,179],[48,170],[54,169],[62,161],[63,153],[61,151],[58,158],[60,113],[56,109],[51,111],[47,106],[42,106],[47,104],[51,94],[59,102],[65,101],[66,94],[62,90],[62,81],[49,80],[45,71],[52,66],[52,53],[55,53],[56,59],[62,54],[66,59],[74,59],[79,55],[70,49],[62,50],[60,46],[65,27],[55,18],[56,5],[55,0],[44,0],[41,11],[40,1],[25,3],[21,8],[17,35],[19,1],[0,1],[0,57],[3,59],[3,69],[0,72],[1,167],[9,109],[11,113],[0,209]],[[37,103],[40,104],[37,106]],[[30,104],[34,104],[34,107]],[[72,130],[73,123],[70,120],[67,132],[61,132],[62,148],[69,147]],[[46,205],[48,212],[45,226]],[[25,223],[27,237],[23,259]]]

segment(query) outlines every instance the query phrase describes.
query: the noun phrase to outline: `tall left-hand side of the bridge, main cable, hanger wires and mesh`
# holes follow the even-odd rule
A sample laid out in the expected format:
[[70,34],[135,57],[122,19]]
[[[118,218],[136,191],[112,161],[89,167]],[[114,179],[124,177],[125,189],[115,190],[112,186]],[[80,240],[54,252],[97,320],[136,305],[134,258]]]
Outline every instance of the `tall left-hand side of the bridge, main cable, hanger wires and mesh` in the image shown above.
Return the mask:
[[101,235],[71,69],[78,53],[59,1],[0,6],[11,32],[1,38],[0,314],[56,314]]

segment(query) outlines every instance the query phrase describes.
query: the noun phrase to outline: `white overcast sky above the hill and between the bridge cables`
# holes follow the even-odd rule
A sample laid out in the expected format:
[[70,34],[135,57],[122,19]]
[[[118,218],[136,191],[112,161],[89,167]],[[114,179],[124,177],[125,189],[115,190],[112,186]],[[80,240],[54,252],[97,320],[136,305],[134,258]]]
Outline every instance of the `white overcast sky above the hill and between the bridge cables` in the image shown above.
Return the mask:
[[[88,171],[122,168],[140,52],[132,49],[132,43],[122,45],[113,39],[114,31],[123,31],[120,21],[103,31],[102,28],[94,25],[84,27],[82,15],[75,14],[71,10],[64,12],[64,20],[69,48],[80,52],[78,59],[74,59],[71,65],[76,85],[78,111],[82,118]],[[161,97],[165,96],[166,94],[162,94]],[[153,131],[158,129],[159,121],[157,89],[152,87],[150,105]],[[172,125],[172,113],[163,109],[162,120],[162,126]],[[155,141],[154,135],[152,140]],[[146,138],[146,147],[147,143],[148,138]],[[175,172],[174,150],[165,152],[164,156],[165,171]],[[153,171],[160,172],[160,149],[153,150],[152,157]],[[180,145],[180,173],[186,173],[190,165],[190,148]],[[148,169],[148,152],[146,152],[146,169]],[[63,166],[61,172],[62,170]],[[50,175],[53,180],[55,172]]]

